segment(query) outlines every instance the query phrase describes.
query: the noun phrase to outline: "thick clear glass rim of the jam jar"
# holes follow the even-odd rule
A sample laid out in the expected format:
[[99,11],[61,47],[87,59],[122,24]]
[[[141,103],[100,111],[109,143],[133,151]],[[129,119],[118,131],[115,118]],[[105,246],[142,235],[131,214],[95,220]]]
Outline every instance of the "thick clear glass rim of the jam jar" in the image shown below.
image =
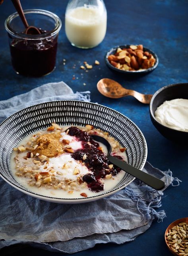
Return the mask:
[[27,35],[27,34],[17,32],[14,29],[12,29],[10,26],[10,22],[12,20],[14,20],[14,18],[19,16],[19,14],[17,12],[14,12],[10,16],[8,16],[8,18],[5,21],[6,31],[8,33],[10,33],[11,35],[13,35],[14,37],[18,37],[21,39],[27,39],[27,40],[46,39],[46,38],[56,35],[61,29],[62,22],[61,22],[60,18],[53,12],[49,12],[49,11],[41,10],[41,9],[27,9],[27,10],[23,10],[23,12],[24,12],[24,14],[32,14],[33,13],[33,14],[43,14],[43,15],[49,16],[50,18],[54,19],[54,21],[56,22],[55,27],[51,31],[48,31],[47,33],[44,33],[41,35]]

